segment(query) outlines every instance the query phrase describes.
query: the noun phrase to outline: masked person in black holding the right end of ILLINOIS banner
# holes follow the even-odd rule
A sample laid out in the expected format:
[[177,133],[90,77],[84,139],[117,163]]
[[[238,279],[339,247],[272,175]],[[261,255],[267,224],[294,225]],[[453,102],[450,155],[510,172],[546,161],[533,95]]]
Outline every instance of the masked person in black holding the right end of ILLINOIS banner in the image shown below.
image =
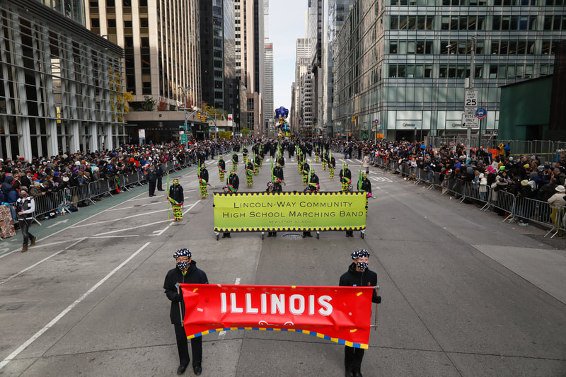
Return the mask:
[[[377,274],[368,268],[369,251],[357,250],[350,255],[352,264],[348,271],[340,277],[340,286],[376,286]],[[381,303],[381,296],[371,298],[374,303]],[[344,366],[346,367],[346,377],[362,377],[362,359],[364,359],[364,349],[348,347],[344,349]]]

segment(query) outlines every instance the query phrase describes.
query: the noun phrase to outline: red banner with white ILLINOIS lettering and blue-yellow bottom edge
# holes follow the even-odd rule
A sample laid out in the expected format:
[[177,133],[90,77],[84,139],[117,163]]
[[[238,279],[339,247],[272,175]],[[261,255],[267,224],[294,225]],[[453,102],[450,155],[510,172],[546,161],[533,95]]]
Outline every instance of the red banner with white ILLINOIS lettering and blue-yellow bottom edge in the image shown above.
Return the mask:
[[293,331],[368,347],[371,286],[180,286],[188,339],[226,330]]

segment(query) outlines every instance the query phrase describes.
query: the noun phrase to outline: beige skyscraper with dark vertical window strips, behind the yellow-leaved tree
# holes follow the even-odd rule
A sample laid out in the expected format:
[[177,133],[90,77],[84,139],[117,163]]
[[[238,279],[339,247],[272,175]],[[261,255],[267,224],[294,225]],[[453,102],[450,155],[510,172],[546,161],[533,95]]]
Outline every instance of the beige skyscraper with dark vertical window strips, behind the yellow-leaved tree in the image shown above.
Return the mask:
[[[194,0],[91,0],[86,8],[87,26],[125,50],[125,82],[134,96],[132,110],[156,110],[200,105],[199,4]],[[145,105],[144,105],[145,104]],[[169,115],[168,117],[173,117]],[[148,139],[168,140],[178,132],[179,120],[166,120],[157,112],[129,113],[127,127],[134,139],[137,128]],[[204,129],[195,129],[204,137]]]

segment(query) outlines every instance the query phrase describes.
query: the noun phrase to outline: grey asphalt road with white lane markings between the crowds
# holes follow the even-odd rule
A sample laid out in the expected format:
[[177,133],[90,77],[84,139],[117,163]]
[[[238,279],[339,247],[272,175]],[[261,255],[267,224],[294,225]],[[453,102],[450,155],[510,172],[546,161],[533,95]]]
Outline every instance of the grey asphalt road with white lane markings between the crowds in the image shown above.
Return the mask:
[[[348,162],[357,177],[359,161]],[[220,190],[216,160],[208,165],[209,192]],[[337,174],[313,166],[321,190],[340,190]],[[265,190],[269,170],[266,158],[248,188],[241,164],[241,191]],[[284,190],[302,190],[294,159],[284,173]],[[540,229],[376,168],[363,239],[216,240],[212,195],[200,199],[193,168],[174,175],[185,189],[180,223],[167,220],[164,192],[150,198],[144,186],[33,226],[28,253],[20,233],[0,245],[0,376],[174,375],[162,287],[182,247],[212,283],[276,285],[337,284],[350,253],[370,250],[383,303],[364,376],[566,376],[564,241],[558,250]],[[293,332],[215,332],[204,337],[202,376],[343,376],[343,354]]]

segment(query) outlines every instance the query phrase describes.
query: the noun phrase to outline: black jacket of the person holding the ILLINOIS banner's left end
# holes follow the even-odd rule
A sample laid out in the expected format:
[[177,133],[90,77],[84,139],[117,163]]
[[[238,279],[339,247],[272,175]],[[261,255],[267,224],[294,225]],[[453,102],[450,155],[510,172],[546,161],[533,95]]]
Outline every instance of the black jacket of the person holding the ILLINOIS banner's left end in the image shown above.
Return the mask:
[[[207,274],[202,271],[202,269],[197,268],[197,262],[192,260],[190,262],[189,269],[187,273],[183,276],[183,272],[175,267],[167,272],[165,277],[165,283],[163,283],[163,289],[165,289],[165,294],[167,298],[171,300],[171,313],[169,314],[171,318],[171,323],[175,325],[181,324],[180,312],[179,312],[179,301],[181,303],[181,308],[183,308],[183,318],[185,317],[185,303],[183,301],[183,296],[177,296],[177,287],[175,284],[185,283],[185,284],[208,284]],[[183,292],[181,292],[183,294]]]

